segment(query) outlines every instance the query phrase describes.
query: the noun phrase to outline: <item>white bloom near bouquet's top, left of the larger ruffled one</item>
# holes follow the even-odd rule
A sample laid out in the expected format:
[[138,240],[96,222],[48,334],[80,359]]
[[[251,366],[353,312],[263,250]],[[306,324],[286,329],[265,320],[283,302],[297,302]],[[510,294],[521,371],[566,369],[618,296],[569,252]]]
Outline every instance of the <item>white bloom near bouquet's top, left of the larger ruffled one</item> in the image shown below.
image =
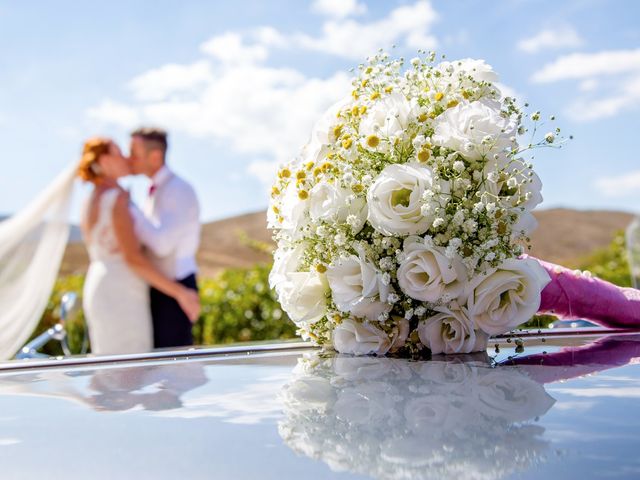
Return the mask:
[[360,134],[364,137],[375,135],[382,139],[403,138],[412,120],[411,104],[401,93],[385,95],[370,109],[360,122]]

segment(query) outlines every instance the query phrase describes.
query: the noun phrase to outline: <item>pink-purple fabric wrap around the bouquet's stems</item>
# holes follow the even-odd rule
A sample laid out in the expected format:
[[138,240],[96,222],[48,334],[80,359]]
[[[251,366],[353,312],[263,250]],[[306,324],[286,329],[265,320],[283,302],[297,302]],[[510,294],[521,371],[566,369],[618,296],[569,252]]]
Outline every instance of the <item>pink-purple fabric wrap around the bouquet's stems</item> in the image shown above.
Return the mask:
[[618,287],[579,270],[536,260],[551,277],[542,291],[540,313],[581,318],[608,328],[640,327],[640,290]]

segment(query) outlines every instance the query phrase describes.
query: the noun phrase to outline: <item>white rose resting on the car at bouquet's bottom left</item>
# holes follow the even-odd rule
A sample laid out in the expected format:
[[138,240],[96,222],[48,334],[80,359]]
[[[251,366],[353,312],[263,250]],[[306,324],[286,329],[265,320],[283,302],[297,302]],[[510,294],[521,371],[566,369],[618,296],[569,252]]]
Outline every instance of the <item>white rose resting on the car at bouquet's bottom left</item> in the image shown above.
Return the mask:
[[345,318],[331,333],[333,348],[352,355],[384,355],[389,351],[389,336],[369,322]]

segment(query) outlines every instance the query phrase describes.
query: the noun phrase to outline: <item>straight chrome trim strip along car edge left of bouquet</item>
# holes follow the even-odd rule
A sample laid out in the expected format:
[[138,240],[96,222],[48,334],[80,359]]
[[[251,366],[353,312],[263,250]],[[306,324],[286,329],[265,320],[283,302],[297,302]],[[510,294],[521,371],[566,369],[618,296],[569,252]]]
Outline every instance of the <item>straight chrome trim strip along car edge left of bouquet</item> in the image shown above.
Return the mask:
[[201,357],[216,357],[224,355],[252,355],[268,352],[280,352],[291,350],[310,350],[318,348],[308,342],[281,342],[270,344],[258,344],[258,345],[234,345],[234,346],[222,346],[222,347],[204,347],[204,348],[190,348],[186,350],[168,350],[168,351],[155,351],[147,353],[133,353],[126,355],[103,355],[99,357],[49,357],[47,360],[42,359],[22,359],[13,360],[11,362],[0,363],[0,373],[23,371],[23,370],[39,370],[39,369],[52,369],[52,368],[68,368],[68,367],[81,367],[92,365],[104,365],[112,364],[117,365],[121,363],[134,363],[134,362],[146,362],[146,361],[161,361],[161,360],[189,360],[193,358]]

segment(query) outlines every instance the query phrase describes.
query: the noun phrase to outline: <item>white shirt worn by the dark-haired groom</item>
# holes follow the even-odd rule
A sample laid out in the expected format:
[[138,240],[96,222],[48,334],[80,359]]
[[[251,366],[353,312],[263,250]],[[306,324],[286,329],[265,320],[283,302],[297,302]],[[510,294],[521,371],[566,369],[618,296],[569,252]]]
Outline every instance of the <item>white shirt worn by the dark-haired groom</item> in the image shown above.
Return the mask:
[[140,242],[158,258],[168,275],[181,280],[196,273],[200,244],[200,205],[193,187],[162,167],[151,179],[154,191],[137,218]]

